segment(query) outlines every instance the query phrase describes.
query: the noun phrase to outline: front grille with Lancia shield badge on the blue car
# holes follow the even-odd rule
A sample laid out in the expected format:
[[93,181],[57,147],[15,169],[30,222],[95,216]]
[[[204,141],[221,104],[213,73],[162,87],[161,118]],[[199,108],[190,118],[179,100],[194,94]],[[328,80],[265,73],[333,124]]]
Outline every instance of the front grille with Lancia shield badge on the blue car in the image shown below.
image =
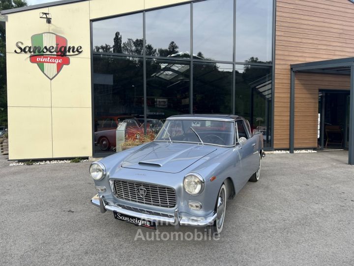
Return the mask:
[[[166,208],[176,206],[176,192],[169,187],[114,180],[114,189],[119,199]],[[146,195],[142,197],[139,191],[146,192]]]

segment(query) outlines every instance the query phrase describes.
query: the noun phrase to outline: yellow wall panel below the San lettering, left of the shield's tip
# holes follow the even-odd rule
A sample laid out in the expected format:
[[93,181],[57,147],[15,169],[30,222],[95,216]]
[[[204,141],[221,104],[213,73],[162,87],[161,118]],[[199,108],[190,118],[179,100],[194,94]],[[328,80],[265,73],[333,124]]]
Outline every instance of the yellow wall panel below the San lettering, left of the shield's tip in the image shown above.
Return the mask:
[[51,106],[50,80],[29,55],[6,53],[7,105]]

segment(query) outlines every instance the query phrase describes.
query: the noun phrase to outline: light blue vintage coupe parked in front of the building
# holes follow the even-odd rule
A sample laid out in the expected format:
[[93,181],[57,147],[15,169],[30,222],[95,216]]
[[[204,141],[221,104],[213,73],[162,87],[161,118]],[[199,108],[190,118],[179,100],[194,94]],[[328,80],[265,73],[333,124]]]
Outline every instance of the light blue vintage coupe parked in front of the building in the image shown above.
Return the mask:
[[236,115],[169,117],[154,141],[91,164],[91,202],[118,220],[223,229],[225,208],[260,178],[262,134]]

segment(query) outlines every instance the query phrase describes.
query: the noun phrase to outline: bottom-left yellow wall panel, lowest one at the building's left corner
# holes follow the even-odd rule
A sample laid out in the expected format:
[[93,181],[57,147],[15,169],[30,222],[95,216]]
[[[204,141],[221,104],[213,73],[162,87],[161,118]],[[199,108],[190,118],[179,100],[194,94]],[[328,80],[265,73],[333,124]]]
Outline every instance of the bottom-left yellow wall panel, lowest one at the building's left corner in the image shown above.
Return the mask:
[[9,159],[52,157],[52,118],[49,107],[9,107]]

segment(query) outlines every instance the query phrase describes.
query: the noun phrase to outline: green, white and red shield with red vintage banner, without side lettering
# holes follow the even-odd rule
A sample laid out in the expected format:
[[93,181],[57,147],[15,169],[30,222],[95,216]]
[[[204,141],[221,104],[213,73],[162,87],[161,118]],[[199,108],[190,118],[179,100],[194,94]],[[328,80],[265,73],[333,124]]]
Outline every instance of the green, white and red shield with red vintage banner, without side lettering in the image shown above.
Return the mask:
[[[67,50],[67,39],[55,33],[39,33],[31,37],[32,47],[35,49],[33,55],[29,57],[31,63],[37,64],[39,69],[50,80],[55,78],[64,65],[70,64],[70,58],[63,55],[61,47]],[[52,49],[53,48],[53,49]],[[42,51],[39,53],[38,51]]]

